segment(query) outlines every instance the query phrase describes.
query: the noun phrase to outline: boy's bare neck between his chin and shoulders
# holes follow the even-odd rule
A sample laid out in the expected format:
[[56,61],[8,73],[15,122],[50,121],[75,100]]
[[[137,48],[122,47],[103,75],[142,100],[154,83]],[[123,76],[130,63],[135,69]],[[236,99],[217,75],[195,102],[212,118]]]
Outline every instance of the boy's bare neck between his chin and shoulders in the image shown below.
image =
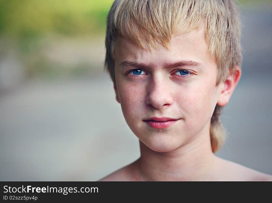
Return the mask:
[[197,135],[170,152],[156,152],[140,141],[137,160],[139,179],[143,181],[211,180],[216,156],[211,150],[210,135]]

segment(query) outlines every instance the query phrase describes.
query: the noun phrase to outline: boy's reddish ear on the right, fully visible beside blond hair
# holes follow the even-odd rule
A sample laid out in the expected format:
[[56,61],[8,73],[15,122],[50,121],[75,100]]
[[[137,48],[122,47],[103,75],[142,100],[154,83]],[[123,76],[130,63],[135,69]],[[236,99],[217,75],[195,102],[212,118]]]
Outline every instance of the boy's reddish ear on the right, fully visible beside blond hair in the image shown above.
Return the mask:
[[240,77],[242,74],[241,67],[235,66],[234,69],[235,69],[234,73],[233,74],[230,73],[224,82],[223,89],[222,89],[222,91],[219,95],[219,99],[217,101],[217,104],[219,106],[225,106],[228,103],[237,83],[240,80]]

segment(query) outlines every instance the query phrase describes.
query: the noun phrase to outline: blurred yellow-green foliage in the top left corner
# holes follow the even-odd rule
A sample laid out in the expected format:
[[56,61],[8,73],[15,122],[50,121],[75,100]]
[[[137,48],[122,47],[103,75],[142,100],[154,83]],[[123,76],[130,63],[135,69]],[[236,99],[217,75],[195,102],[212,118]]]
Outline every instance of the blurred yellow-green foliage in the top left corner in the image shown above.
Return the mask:
[[0,33],[22,37],[26,33],[89,35],[103,32],[112,2],[0,0]]

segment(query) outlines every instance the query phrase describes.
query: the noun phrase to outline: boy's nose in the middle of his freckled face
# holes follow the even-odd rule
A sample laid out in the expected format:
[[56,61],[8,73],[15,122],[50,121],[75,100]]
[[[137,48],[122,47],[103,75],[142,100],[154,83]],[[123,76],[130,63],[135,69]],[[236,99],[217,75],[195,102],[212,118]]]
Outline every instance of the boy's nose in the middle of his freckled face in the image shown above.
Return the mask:
[[146,103],[156,109],[170,106],[173,103],[171,90],[167,79],[152,78],[147,87]]

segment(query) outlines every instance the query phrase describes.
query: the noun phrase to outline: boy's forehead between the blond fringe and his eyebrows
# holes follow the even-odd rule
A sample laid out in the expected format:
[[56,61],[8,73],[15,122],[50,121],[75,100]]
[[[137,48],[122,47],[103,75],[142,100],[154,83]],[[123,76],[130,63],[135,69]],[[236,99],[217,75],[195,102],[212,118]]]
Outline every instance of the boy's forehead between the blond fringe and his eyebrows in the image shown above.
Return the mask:
[[[148,47],[147,43],[146,47]],[[177,60],[197,61],[204,65],[215,62],[208,51],[203,28],[173,35],[168,48],[157,45],[152,50],[142,49],[131,40],[118,38],[114,55],[118,64],[125,60],[157,64]]]

